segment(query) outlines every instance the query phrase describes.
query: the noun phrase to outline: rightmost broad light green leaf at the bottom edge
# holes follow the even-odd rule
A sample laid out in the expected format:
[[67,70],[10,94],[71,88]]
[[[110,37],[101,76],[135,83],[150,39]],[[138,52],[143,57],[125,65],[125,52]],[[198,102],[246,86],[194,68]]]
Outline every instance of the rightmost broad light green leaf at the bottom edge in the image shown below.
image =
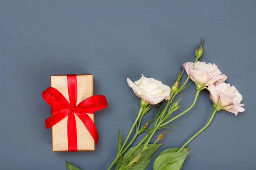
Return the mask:
[[186,156],[189,154],[189,149],[190,147],[183,148],[181,152],[177,152],[180,148],[163,150],[157,155],[153,170],[180,170]]

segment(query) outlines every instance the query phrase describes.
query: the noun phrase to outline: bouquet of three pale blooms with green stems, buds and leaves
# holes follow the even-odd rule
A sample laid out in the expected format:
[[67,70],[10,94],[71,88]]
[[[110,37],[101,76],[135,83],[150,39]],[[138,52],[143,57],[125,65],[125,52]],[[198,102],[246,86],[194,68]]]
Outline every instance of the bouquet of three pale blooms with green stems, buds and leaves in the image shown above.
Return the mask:
[[[212,116],[209,121],[201,130],[183,144],[183,146],[169,148],[160,152],[154,160],[153,170],[180,170],[190,152],[190,147],[186,146],[209,126],[216,112],[223,109],[237,115],[239,112],[244,111],[244,108],[241,107],[244,105],[241,104],[242,96],[239,91],[233,85],[231,86],[224,82],[227,76],[222,74],[215,64],[198,61],[203,56],[204,42],[205,39],[202,40],[201,38],[198,48],[195,51],[195,61],[183,63],[183,67],[180,69],[171,87],[163,85],[157,79],[144,77],[143,74],[135,82],[127,79],[128,86],[141,99],[140,109],[124,141],[121,139],[121,131],[119,130],[116,158],[110,164],[108,170],[111,170],[114,165],[115,170],[145,170],[153,154],[162,145],[159,141],[169,132],[167,125],[170,125],[175,119],[187,113],[195,105],[198,95],[203,90],[209,91],[210,99],[213,102]],[[184,83],[181,84],[180,82],[185,72],[188,76]],[[191,83],[188,83],[189,79],[192,80]],[[175,99],[175,96],[192,83],[195,84],[196,88],[192,104],[177,114],[177,116],[172,116],[174,111],[182,107],[179,103],[184,97],[182,95],[179,99]],[[164,100],[167,101],[166,104],[164,104]],[[143,116],[154,106],[158,107],[154,119],[150,119],[147,123],[141,125]],[[156,141],[152,141],[151,138],[159,129],[165,130],[158,135]],[[133,131],[135,133],[131,136]],[[134,145],[135,139],[138,135],[143,135],[142,133],[144,134],[143,139]],[[68,162],[66,162],[66,165],[68,170],[78,170],[77,167]]]

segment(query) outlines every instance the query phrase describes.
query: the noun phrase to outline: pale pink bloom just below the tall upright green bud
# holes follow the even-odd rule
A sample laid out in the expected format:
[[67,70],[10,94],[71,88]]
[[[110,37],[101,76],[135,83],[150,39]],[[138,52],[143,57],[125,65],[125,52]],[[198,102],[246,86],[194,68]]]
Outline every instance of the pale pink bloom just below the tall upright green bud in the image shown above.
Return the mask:
[[221,74],[221,71],[217,68],[215,64],[206,62],[185,62],[183,64],[186,73],[190,74],[190,79],[196,83],[199,88],[212,85],[215,82],[224,82],[227,79],[227,76]]

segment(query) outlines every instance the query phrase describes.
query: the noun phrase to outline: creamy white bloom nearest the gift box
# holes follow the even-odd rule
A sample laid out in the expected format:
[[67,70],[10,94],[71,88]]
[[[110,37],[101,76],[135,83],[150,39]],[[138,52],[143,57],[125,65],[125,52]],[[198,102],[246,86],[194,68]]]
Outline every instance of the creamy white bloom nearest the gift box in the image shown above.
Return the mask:
[[152,105],[162,102],[163,99],[170,99],[171,88],[157,79],[146,78],[142,74],[139,80],[132,82],[127,78],[127,82],[138,97]]

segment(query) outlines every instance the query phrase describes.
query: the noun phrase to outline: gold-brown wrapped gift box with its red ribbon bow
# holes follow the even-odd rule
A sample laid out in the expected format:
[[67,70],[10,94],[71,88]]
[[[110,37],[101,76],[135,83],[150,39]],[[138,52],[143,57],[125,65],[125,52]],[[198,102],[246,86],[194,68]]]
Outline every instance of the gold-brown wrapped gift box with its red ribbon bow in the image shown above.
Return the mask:
[[45,120],[52,127],[52,151],[94,150],[99,136],[94,111],[107,106],[105,96],[93,96],[92,74],[52,75],[51,87],[43,91],[52,107]]

